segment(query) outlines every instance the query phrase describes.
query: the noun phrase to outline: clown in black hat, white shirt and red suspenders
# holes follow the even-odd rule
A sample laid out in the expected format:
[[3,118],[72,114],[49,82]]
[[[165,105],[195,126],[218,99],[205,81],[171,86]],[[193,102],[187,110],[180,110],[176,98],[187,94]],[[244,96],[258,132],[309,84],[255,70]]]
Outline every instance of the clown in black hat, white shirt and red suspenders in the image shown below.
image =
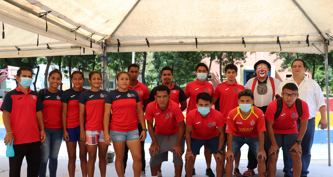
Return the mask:
[[[273,101],[277,88],[281,84],[279,79],[274,77],[269,77],[268,72],[271,69],[271,65],[265,60],[259,60],[254,64],[254,70],[257,73],[257,77],[251,78],[245,84],[245,89],[251,89],[254,96],[254,106],[258,107],[264,114],[266,112],[267,106]],[[267,153],[267,152],[266,152]],[[268,154],[267,154],[268,157]],[[254,175],[254,169],[257,167],[256,155],[253,154],[252,150],[249,148],[247,153],[247,171],[244,172],[243,176],[251,177]],[[268,159],[266,159],[267,166]],[[267,174],[266,170],[266,174]]]

